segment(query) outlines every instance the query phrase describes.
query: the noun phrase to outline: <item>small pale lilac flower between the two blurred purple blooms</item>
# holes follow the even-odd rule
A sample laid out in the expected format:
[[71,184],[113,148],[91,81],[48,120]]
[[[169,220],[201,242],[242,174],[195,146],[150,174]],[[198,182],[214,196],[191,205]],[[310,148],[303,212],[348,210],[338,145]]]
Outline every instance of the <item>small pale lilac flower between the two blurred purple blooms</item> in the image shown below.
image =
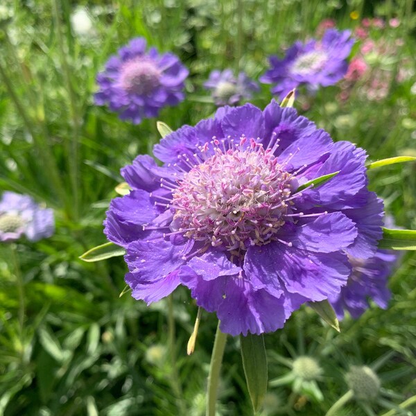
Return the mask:
[[259,85],[244,72],[239,73],[239,78],[234,78],[231,69],[211,71],[204,87],[212,90],[212,98],[218,106],[236,105],[242,98],[251,98],[253,92],[259,91]]

